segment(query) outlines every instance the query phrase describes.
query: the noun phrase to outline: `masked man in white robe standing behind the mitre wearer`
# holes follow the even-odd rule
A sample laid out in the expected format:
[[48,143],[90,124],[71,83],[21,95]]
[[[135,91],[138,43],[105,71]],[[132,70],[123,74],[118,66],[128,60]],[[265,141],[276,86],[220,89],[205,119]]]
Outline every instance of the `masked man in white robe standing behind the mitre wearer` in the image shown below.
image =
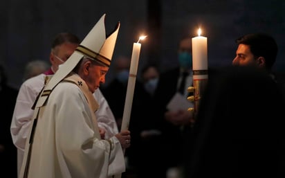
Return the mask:
[[[51,44],[49,56],[51,63],[50,68],[44,73],[30,78],[21,84],[14,113],[12,115],[12,122],[10,123],[12,140],[17,147],[18,172],[21,168],[26,138],[33,117],[34,110],[32,107],[37,95],[44,87],[45,78],[46,76],[52,76],[59,68],[59,65],[66,62],[79,44],[80,39],[72,33],[57,34]],[[115,118],[100,89],[96,89],[93,96],[98,100],[100,105],[100,108],[95,112],[95,115],[98,119],[98,125],[102,128],[102,137],[109,139],[111,136],[118,133]],[[120,163],[118,164],[120,165]]]

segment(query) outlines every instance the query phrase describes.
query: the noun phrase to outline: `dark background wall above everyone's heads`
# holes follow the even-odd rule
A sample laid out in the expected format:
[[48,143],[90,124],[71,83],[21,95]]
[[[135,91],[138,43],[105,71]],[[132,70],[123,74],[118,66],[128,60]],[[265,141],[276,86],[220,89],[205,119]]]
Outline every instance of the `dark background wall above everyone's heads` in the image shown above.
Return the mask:
[[[69,31],[83,39],[107,13],[107,32],[113,30],[117,21],[121,22],[113,60],[118,55],[131,57],[133,43],[141,34],[148,35],[142,42],[138,73],[149,61],[160,64],[162,71],[175,66],[179,39],[196,36],[199,27],[208,37],[209,66],[231,64],[237,37],[265,32],[273,35],[279,46],[275,70],[285,71],[284,9],[283,0],[3,0],[0,64],[5,67],[10,84],[19,87],[28,61],[48,62],[55,34]],[[112,73],[111,66],[107,82]]]

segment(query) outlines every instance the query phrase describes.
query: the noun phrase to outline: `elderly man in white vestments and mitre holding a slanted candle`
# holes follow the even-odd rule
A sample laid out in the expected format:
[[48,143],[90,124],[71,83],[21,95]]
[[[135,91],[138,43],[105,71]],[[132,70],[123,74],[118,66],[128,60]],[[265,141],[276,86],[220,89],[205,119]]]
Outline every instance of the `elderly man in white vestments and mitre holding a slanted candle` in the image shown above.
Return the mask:
[[[46,83],[35,103],[19,177],[109,177],[130,132],[101,139],[93,93],[104,83],[120,23],[106,37],[103,15],[80,46]],[[33,125],[33,127],[32,127]]]

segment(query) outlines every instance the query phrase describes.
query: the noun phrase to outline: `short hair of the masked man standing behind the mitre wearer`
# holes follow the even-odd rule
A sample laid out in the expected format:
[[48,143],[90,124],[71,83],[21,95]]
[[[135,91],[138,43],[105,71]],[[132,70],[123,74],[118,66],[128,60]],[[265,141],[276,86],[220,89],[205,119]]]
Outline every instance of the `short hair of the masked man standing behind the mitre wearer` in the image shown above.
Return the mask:
[[80,44],[80,39],[72,33],[58,33],[51,44],[51,48],[62,45],[66,42],[72,44]]

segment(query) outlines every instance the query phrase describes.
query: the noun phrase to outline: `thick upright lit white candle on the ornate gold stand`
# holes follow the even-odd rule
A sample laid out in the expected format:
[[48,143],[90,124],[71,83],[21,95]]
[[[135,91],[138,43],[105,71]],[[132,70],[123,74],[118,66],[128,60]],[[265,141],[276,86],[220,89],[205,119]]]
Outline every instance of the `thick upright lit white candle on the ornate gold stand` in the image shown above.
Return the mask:
[[198,36],[192,38],[192,59],[193,71],[208,70],[207,37],[201,36],[200,28]]

